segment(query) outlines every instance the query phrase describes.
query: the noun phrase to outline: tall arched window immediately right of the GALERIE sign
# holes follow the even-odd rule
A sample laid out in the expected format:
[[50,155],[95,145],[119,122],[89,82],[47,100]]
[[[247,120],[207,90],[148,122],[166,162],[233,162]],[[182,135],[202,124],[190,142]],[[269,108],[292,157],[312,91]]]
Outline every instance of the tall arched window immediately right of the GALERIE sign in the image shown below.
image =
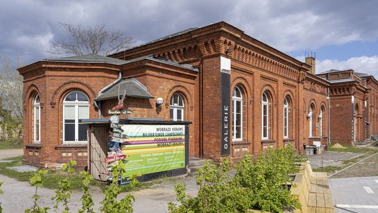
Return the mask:
[[232,139],[243,139],[243,95],[239,87],[232,93]]

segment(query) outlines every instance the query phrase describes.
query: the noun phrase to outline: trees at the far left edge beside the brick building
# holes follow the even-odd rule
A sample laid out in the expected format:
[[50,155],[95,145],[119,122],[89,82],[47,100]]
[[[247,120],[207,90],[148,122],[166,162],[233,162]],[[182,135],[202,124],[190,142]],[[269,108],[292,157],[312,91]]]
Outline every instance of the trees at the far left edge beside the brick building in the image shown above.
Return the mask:
[[[21,63],[17,62],[17,67]],[[1,58],[0,65],[0,125],[8,136],[22,135],[23,78],[12,69],[10,60]]]

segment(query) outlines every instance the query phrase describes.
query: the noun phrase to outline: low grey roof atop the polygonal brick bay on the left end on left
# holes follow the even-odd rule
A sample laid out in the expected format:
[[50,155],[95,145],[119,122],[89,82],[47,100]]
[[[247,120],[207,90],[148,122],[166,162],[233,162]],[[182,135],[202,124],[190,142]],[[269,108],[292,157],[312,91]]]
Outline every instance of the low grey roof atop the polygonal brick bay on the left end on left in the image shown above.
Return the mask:
[[112,65],[123,65],[126,64],[126,60],[121,60],[118,58],[110,58],[107,56],[99,56],[97,54],[91,53],[85,56],[71,56],[66,58],[46,58],[44,61],[51,62],[95,62],[95,63],[107,63]]

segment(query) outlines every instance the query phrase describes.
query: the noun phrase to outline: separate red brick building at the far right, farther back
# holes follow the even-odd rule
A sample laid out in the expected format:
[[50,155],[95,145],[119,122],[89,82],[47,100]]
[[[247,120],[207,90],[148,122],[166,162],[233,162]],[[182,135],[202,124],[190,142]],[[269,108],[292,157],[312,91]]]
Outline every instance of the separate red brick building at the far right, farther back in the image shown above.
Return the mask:
[[377,80],[352,69],[331,69],[318,76],[330,83],[331,141],[352,144],[376,136]]

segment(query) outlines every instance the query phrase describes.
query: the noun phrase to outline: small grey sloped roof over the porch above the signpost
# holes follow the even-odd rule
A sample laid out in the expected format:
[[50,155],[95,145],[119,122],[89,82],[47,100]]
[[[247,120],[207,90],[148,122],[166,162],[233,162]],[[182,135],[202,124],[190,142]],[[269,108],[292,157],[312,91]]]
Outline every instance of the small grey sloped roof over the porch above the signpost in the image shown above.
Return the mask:
[[[147,91],[146,86],[140,83],[135,78],[127,78],[121,80],[119,83],[114,84],[105,92],[97,96],[95,101],[102,101],[108,99],[115,99],[118,95],[122,96],[123,91],[126,90],[126,96],[137,97],[142,99],[153,99],[154,97]],[[119,91],[119,92],[118,92]],[[120,94],[118,94],[120,93]]]

